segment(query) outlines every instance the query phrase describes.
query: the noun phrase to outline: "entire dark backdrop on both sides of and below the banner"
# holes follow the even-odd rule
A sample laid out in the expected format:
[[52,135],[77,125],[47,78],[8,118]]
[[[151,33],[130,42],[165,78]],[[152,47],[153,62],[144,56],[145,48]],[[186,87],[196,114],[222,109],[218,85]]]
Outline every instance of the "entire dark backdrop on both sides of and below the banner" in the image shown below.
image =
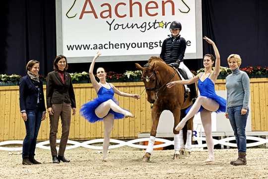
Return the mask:
[[[40,73],[47,75],[56,56],[55,0],[1,0],[0,8],[0,74],[24,75],[26,63],[36,59]],[[227,66],[226,58],[232,53],[241,55],[241,67],[268,66],[267,9],[268,0],[202,0],[202,33],[215,41],[222,66]],[[206,53],[213,50],[204,42]],[[96,63],[96,67],[123,73],[135,70],[134,63]],[[198,70],[202,59],[185,60],[185,64]],[[69,64],[68,71],[88,68],[89,63]]]

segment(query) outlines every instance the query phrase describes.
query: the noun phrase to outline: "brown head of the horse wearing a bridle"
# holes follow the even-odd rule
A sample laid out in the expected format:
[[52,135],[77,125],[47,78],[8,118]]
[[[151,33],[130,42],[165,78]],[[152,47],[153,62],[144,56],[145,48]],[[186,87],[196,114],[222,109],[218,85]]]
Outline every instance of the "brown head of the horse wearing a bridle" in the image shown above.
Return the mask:
[[142,72],[142,81],[144,83],[146,93],[147,93],[147,101],[150,103],[154,103],[157,99],[157,90],[159,88],[159,79],[157,79],[157,72],[155,71],[155,63],[156,61],[162,61],[162,59],[158,57],[151,57],[148,60],[148,63],[141,67],[139,64],[135,63],[135,66],[138,70]]

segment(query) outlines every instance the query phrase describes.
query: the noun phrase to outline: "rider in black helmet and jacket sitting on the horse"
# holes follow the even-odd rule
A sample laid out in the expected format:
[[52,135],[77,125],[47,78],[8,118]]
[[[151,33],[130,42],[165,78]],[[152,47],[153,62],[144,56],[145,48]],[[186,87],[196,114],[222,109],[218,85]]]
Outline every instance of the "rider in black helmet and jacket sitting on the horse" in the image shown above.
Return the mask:
[[[166,64],[178,69],[185,80],[193,78],[191,71],[184,65],[183,57],[186,49],[186,41],[180,35],[182,25],[179,21],[173,21],[170,24],[171,35],[163,41],[160,58]],[[196,85],[191,84],[188,86],[190,89],[191,98],[197,98]]]

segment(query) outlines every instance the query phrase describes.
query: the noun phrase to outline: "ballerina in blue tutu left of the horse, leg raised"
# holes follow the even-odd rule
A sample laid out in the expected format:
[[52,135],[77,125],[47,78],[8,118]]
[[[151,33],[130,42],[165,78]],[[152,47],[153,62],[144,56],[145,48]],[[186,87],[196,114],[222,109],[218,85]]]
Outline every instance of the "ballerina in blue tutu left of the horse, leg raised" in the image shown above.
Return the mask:
[[114,119],[134,117],[134,115],[118,105],[114,94],[126,97],[140,98],[138,94],[129,94],[115,88],[113,84],[106,82],[106,73],[104,68],[97,69],[98,83],[93,75],[93,69],[96,59],[101,55],[97,52],[89,68],[89,77],[93,88],[96,90],[98,97],[82,105],[81,115],[91,123],[102,121],[104,124],[104,141],[103,141],[103,161],[107,161],[107,152],[110,143],[110,135],[114,125]]

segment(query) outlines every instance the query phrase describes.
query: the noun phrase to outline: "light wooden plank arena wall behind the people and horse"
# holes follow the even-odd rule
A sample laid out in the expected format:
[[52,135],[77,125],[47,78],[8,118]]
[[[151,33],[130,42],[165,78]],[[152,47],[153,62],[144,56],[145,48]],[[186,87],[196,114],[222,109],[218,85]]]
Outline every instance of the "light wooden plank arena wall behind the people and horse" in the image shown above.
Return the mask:
[[[140,94],[144,85],[142,82],[113,83],[119,90]],[[251,118],[252,131],[268,131],[268,78],[251,79]],[[95,98],[96,92],[91,84],[74,84],[77,113],[72,116],[69,139],[89,140],[103,138],[103,122],[91,124],[79,114],[80,106]],[[225,90],[225,80],[217,80],[216,90]],[[46,86],[44,86],[44,91]],[[120,106],[134,113],[134,118],[124,118],[114,121],[112,138],[133,139],[140,132],[150,132],[151,108],[146,101],[146,92],[141,99],[115,95]],[[61,137],[61,122],[59,122],[58,137]],[[49,139],[49,118],[42,121],[38,140]],[[18,86],[0,87],[0,141],[23,140],[25,125],[20,116]]]

